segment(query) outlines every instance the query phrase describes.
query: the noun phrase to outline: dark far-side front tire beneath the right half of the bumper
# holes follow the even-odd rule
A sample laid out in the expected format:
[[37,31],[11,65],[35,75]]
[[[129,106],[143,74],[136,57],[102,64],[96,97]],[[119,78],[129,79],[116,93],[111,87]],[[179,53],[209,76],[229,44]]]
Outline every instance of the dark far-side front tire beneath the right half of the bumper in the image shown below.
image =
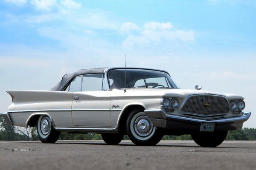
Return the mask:
[[201,147],[216,147],[225,140],[227,131],[196,132],[191,137]]

